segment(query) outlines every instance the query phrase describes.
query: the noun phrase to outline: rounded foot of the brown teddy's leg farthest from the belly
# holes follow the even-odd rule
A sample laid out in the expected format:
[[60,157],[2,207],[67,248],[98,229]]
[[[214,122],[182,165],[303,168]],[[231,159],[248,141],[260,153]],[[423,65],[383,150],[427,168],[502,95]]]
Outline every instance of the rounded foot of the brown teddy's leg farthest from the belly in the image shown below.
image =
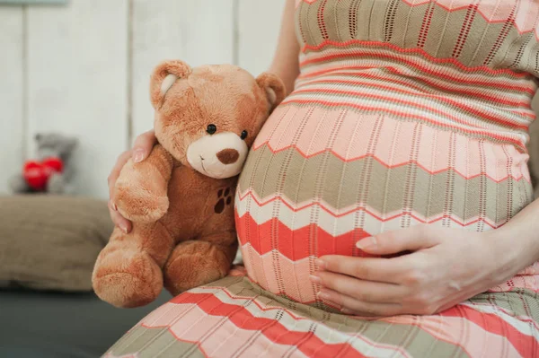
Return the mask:
[[97,265],[93,272],[93,290],[102,301],[119,308],[141,307],[155,301],[163,290],[163,273],[152,258],[137,253],[128,262],[125,258],[112,259],[107,261],[116,267]]

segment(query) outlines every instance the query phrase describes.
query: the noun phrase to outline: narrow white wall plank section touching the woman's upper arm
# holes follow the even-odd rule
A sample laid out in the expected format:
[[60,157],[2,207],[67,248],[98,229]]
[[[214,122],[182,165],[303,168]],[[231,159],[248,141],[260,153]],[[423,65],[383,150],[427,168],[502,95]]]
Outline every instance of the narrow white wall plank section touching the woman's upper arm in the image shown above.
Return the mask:
[[286,0],[238,0],[238,65],[253,75],[268,70]]

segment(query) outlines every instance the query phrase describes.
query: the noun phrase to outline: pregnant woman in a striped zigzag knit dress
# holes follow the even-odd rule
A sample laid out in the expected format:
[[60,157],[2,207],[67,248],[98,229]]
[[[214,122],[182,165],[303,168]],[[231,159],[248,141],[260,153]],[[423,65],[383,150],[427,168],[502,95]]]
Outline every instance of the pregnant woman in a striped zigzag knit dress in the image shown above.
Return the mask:
[[538,22],[535,0],[287,0],[271,70],[294,91],[235,198],[245,273],[112,354],[539,356]]

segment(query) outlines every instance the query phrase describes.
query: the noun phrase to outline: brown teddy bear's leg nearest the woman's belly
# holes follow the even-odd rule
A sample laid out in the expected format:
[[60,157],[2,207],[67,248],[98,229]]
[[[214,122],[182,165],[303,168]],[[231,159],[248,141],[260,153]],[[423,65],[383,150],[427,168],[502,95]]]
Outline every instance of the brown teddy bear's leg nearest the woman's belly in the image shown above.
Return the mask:
[[229,246],[206,240],[183,241],[172,250],[163,268],[164,287],[176,296],[223,278],[230,271],[236,251],[235,236]]

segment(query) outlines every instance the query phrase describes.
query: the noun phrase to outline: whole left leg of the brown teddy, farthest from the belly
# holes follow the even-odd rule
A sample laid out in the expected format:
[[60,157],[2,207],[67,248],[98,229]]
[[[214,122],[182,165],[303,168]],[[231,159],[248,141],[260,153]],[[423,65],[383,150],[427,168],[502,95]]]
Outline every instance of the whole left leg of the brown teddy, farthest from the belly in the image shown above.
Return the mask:
[[172,237],[162,223],[134,223],[126,234],[114,229],[93,269],[93,290],[116,307],[138,307],[163,290],[163,265]]

